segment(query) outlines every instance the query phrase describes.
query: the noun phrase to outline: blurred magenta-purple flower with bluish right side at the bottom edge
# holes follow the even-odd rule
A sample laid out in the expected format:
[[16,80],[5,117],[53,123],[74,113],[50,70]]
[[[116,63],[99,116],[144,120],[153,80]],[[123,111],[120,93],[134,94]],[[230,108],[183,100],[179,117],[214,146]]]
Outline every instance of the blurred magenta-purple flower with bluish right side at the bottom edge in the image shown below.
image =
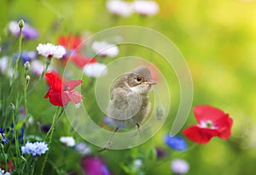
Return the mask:
[[99,157],[88,156],[81,161],[82,168],[87,175],[110,175],[108,167]]

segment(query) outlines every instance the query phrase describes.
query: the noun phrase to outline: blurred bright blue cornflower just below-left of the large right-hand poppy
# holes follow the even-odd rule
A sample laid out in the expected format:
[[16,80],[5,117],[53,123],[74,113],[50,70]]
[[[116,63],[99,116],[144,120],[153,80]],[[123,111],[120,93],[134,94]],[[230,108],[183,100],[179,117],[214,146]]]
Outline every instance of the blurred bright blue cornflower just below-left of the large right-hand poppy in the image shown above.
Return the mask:
[[168,146],[170,146],[173,150],[187,150],[188,144],[184,140],[182,136],[170,136],[166,135],[165,142]]

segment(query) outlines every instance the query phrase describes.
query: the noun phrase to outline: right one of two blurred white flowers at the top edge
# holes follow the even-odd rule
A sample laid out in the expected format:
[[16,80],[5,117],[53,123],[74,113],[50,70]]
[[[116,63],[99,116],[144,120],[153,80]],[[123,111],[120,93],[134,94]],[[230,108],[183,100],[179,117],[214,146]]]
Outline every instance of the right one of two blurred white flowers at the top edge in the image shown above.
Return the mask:
[[154,1],[137,0],[133,2],[133,8],[137,14],[143,14],[147,16],[157,14],[159,11],[159,5]]

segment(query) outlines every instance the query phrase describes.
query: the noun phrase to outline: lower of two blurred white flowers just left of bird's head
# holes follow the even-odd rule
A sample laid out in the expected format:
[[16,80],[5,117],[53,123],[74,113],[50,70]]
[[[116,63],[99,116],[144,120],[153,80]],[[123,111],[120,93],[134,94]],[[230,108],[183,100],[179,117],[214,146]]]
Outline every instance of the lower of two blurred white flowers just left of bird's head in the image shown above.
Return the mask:
[[105,76],[108,73],[107,65],[101,63],[91,63],[84,65],[84,74],[89,77]]

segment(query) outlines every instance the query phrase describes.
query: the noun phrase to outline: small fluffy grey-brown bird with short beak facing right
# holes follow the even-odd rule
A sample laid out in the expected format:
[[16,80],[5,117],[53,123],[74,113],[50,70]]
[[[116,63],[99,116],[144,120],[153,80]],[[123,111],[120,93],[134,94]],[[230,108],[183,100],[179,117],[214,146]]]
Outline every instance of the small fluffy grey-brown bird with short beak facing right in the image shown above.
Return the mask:
[[121,126],[140,127],[150,110],[148,93],[154,84],[146,66],[139,66],[114,82],[107,111],[116,124],[115,132]]

